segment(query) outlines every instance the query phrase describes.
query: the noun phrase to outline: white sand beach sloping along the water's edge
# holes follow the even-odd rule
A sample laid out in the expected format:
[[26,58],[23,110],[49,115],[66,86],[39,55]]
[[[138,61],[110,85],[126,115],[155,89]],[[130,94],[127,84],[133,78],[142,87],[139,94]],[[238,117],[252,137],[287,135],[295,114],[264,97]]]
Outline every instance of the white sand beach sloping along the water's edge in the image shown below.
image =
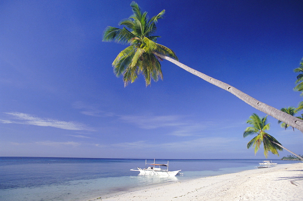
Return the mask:
[[303,200],[303,163],[177,181],[107,195],[102,201]]

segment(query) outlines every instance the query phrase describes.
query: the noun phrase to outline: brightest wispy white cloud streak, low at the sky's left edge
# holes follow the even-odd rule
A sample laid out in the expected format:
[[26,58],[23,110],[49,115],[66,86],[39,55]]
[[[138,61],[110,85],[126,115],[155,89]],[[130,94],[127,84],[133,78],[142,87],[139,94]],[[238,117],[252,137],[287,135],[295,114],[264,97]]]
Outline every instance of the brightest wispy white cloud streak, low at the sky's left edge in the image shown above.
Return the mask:
[[13,120],[0,120],[0,122],[8,124],[27,124],[36,126],[50,126],[55,128],[61,128],[66,130],[92,130],[86,127],[84,124],[78,122],[65,122],[52,118],[40,118],[33,115],[21,113],[21,112],[4,112],[9,115]]

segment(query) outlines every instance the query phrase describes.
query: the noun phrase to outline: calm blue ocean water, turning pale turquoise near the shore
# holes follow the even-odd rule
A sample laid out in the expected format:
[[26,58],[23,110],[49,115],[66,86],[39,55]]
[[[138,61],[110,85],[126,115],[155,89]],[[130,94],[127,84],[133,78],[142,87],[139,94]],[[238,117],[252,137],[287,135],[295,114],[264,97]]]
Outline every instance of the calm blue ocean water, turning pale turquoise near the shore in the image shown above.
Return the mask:
[[[88,201],[138,186],[251,170],[259,159],[161,159],[175,177],[138,175],[145,159],[0,157],[1,201]],[[266,159],[268,160],[268,159]],[[272,160],[278,164],[297,163]],[[153,163],[153,159],[147,163]]]

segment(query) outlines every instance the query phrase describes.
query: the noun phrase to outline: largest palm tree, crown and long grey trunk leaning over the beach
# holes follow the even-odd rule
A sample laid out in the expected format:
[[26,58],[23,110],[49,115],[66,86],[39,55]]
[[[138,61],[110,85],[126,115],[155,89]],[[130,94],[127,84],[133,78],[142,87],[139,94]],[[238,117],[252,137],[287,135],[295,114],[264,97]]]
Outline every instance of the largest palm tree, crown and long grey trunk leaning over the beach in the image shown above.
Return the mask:
[[272,117],[303,131],[303,120],[288,115],[281,110],[248,96],[229,84],[200,73],[178,62],[177,56],[171,49],[157,43],[157,38],[159,36],[152,35],[156,31],[158,19],[162,18],[165,10],[149,19],[147,12],[142,12],[137,3],[132,2],[131,7],[133,15],[119,23],[119,25],[124,25],[125,27],[122,29],[107,27],[103,34],[103,41],[115,41],[117,43],[129,45],[118,54],[112,63],[114,73],[118,77],[123,76],[125,86],[134,82],[140,74],[144,76],[146,86],[151,84],[151,79],[154,81],[158,81],[159,78],[162,79],[161,64],[159,61],[165,59],[207,82],[231,92],[239,99],[261,112],[271,115]]

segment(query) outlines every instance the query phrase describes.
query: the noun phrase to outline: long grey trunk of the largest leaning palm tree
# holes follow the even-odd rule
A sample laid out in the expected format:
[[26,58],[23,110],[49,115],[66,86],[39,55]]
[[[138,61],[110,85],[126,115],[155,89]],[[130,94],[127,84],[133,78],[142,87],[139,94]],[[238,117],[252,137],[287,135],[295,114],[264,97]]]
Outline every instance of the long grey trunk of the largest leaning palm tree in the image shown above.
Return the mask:
[[239,99],[243,100],[244,102],[246,102],[248,105],[251,105],[252,107],[254,107],[255,109],[260,110],[261,112],[264,112],[278,120],[280,120],[281,122],[284,122],[294,128],[297,128],[298,130],[303,132],[303,120],[296,118],[292,115],[287,114],[286,112],[282,112],[281,110],[278,110],[274,107],[271,107],[270,105],[267,105],[263,102],[258,101],[257,99],[254,99],[251,96],[248,96],[246,93],[241,92],[239,89],[236,89],[235,87],[226,84],[224,82],[221,82],[218,79],[214,79],[208,75],[205,75],[197,70],[194,70],[180,62],[178,62],[177,60],[174,60],[170,57],[164,56],[162,54],[159,53],[154,53],[155,55],[157,55],[158,57],[161,57],[162,59],[168,60],[171,63],[176,64],[177,66],[183,68],[184,70],[204,79],[205,81],[218,86],[228,92],[231,92],[233,95],[237,96]]

